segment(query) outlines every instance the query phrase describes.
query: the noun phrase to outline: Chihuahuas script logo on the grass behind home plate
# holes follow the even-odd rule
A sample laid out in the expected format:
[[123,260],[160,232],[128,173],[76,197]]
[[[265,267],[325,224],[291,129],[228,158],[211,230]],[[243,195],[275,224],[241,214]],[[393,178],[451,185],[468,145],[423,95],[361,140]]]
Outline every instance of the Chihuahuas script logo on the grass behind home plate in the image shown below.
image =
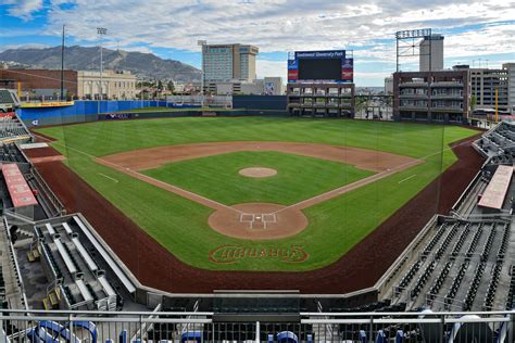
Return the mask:
[[214,263],[231,264],[247,258],[279,258],[286,263],[301,263],[310,255],[299,245],[289,247],[221,245],[210,252]]

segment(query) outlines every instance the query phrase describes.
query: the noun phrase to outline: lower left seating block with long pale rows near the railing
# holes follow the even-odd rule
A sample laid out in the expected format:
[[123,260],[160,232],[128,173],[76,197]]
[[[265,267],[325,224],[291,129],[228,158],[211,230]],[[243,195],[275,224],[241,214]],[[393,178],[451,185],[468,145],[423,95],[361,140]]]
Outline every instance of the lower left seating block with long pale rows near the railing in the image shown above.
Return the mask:
[[[88,230],[78,216],[38,223],[34,227],[35,239],[28,254],[36,252],[42,256],[39,262],[51,285],[42,298],[45,307],[121,309],[123,296],[116,290],[121,289],[123,281],[105,262],[109,257],[93,247],[90,237],[84,233],[85,229]],[[112,282],[116,279],[117,285],[114,287]],[[58,298],[56,303],[51,301],[52,296]]]

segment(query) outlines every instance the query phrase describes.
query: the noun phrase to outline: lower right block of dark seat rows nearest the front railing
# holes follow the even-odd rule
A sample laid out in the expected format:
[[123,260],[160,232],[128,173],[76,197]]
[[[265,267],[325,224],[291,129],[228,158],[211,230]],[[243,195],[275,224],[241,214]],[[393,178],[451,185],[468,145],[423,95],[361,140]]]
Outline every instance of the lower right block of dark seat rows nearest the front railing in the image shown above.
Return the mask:
[[426,245],[410,252],[414,261],[386,298],[410,309],[504,309],[510,288],[500,279],[511,268],[505,256],[515,254],[511,223],[441,220]]

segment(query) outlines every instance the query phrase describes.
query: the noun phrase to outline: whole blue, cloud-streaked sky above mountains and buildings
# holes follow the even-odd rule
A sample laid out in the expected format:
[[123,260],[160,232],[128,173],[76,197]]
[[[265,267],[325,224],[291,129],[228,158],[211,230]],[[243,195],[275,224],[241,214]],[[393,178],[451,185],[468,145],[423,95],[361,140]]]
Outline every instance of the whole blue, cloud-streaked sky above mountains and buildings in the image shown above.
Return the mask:
[[[97,46],[101,26],[108,48],[196,67],[199,39],[254,45],[258,76],[284,79],[288,51],[353,50],[362,87],[395,71],[394,33],[404,29],[444,35],[445,67],[515,62],[515,0],[0,0],[0,51],[59,46],[62,25],[67,46]],[[402,58],[401,69],[417,61]]]

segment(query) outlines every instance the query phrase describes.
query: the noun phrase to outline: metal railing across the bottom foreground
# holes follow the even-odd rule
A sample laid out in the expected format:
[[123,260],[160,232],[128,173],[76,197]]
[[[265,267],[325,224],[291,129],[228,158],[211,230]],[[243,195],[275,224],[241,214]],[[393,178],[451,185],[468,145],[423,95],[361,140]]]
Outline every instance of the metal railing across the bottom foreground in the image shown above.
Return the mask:
[[0,316],[0,342],[513,343],[515,314],[300,313],[285,320],[269,314],[230,318],[205,312],[113,315],[111,312],[5,309]]

